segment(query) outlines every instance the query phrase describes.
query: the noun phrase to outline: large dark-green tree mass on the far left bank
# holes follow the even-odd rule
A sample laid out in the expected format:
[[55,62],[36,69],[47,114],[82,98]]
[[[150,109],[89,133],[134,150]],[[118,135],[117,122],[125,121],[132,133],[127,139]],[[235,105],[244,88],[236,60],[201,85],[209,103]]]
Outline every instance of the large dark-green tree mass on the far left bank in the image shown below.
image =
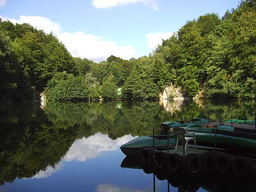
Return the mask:
[[0,34],[1,45],[6,47],[2,50],[6,53],[0,77],[9,76],[3,87],[10,88],[10,91],[1,91],[1,101],[35,99],[55,73],[65,70],[77,74],[73,57],[52,34],[47,35],[29,24],[14,25],[9,21],[0,22]]

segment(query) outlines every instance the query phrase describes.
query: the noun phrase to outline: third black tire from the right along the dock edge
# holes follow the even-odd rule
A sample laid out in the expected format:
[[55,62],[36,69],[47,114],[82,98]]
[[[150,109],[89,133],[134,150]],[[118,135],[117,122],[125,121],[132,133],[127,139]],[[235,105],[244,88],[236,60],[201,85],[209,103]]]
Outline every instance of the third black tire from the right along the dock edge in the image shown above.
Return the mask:
[[212,152],[203,153],[200,156],[202,170],[212,172],[215,169],[216,154]]

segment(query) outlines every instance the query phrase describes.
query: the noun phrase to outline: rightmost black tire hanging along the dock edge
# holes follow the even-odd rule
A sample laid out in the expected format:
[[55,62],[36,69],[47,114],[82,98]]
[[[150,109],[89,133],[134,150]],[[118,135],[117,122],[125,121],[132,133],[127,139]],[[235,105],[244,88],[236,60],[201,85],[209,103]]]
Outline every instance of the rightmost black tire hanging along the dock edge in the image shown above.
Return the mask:
[[236,157],[232,161],[232,171],[237,176],[249,176],[251,174],[251,162],[245,158]]

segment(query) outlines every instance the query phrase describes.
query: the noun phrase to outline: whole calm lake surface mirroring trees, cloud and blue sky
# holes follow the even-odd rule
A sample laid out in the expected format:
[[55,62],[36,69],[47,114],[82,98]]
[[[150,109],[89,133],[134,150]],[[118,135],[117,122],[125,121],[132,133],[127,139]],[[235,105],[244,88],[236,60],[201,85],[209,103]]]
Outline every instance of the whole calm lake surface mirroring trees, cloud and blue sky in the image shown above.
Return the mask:
[[[153,174],[129,166],[129,161],[121,168],[125,155],[120,145],[135,136],[150,135],[161,122],[208,115],[215,120],[231,115],[254,119],[255,101],[1,106],[0,191],[154,191]],[[168,191],[166,177],[156,175],[155,191]],[[251,188],[254,182],[236,182],[233,177],[226,181],[221,174],[171,177],[170,191],[186,189],[191,183],[196,183],[193,189],[198,191],[255,189]]]

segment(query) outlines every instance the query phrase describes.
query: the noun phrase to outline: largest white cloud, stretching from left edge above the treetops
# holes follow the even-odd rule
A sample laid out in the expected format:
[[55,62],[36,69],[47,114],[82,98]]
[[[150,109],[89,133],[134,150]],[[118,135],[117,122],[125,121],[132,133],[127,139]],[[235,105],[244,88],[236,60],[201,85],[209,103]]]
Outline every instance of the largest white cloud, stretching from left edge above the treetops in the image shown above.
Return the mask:
[[106,60],[110,55],[127,60],[131,57],[138,57],[136,49],[131,45],[119,46],[114,41],[105,40],[104,37],[85,34],[81,31],[73,33],[62,32],[60,24],[42,16],[22,15],[19,19],[0,16],[0,18],[2,20],[10,20],[13,23],[30,23],[31,26],[36,27],[38,30],[44,30],[46,33],[53,32],[65,44],[65,47],[73,57],[86,58],[95,62]]

